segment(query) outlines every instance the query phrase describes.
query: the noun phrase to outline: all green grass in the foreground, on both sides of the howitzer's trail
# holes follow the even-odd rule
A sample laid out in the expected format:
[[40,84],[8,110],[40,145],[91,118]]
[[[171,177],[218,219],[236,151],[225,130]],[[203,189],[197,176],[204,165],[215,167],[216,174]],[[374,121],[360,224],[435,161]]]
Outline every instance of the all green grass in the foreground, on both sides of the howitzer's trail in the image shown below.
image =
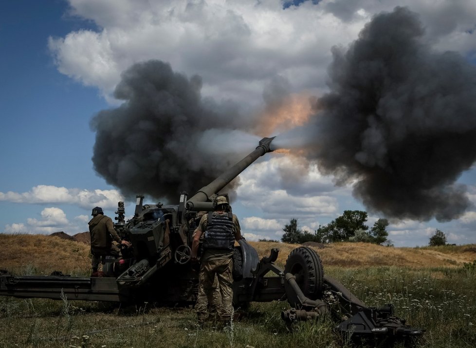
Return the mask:
[[[420,347],[476,346],[474,269],[329,268],[326,274],[367,306],[393,303],[396,315],[426,330]],[[0,347],[350,347],[328,318],[287,328],[283,309],[286,302],[252,303],[223,332],[199,329],[192,308],[0,297]]]

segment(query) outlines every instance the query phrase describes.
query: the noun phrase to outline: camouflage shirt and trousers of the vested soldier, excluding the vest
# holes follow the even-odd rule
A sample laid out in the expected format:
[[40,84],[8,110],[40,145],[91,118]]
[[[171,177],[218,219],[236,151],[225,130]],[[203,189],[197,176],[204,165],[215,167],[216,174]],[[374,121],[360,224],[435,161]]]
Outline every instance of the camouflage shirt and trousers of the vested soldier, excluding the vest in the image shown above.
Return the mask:
[[[213,212],[213,217],[227,216],[226,212]],[[208,214],[204,214],[201,217],[198,231],[207,231]],[[238,222],[238,218],[235,214],[232,214],[232,232],[235,240],[241,239],[241,230]],[[214,290],[213,284],[215,279],[218,278],[218,288],[220,289],[221,306],[219,308],[219,314],[221,320],[229,322],[233,315],[233,250],[224,249],[207,249],[205,248],[201,256],[200,267],[200,284],[199,284],[199,296],[197,299],[198,308],[197,315],[199,320],[203,314],[203,304],[214,302]],[[200,291],[203,289],[203,292]],[[206,298],[205,298],[206,297]]]

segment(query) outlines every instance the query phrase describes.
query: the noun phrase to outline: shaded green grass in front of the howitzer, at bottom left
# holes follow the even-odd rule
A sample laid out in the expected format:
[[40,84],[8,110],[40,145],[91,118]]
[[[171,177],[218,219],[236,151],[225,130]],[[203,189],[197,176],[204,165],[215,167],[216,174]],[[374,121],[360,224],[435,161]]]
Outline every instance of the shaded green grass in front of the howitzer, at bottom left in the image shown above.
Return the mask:
[[[78,307],[82,306],[82,307]],[[253,303],[232,331],[199,329],[191,308],[108,307],[98,303],[1,298],[1,347],[342,347],[332,323],[281,321],[286,303]],[[6,311],[5,311],[6,309]],[[296,341],[297,340],[297,341]]]

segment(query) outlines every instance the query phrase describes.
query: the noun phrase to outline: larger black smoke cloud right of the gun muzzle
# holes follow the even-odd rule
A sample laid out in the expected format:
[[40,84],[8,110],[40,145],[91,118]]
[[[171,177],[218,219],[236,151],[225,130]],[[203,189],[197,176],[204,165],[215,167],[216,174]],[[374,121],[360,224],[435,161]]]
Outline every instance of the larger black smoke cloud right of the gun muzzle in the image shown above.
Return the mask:
[[455,182],[476,159],[476,68],[424,40],[418,15],[397,7],[333,48],[308,157],[371,211],[447,221],[470,206]]

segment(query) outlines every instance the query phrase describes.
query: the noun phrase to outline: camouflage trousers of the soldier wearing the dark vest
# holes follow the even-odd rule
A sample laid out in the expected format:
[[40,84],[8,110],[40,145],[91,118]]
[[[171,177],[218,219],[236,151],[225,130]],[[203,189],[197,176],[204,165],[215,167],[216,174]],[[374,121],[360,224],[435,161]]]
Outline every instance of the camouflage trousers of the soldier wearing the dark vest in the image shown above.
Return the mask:
[[[215,307],[221,320],[231,320],[233,315],[232,270],[233,260],[231,258],[202,262],[199,276],[199,293],[195,305],[199,320],[207,318],[209,304],[210,312]],[[214,287],[214,284],[217,286]]]

